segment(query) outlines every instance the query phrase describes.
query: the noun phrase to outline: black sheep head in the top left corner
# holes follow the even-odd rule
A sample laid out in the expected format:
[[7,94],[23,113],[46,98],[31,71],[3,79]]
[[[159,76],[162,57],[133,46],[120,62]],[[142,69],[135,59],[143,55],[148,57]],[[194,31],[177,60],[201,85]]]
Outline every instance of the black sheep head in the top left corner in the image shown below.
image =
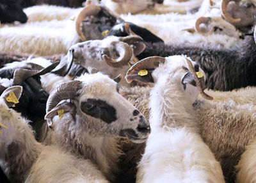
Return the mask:
[[0,2],[0,22],[2,24],[19,21],[24,24],[28,20],[22,11],[21,0],[2,0]]

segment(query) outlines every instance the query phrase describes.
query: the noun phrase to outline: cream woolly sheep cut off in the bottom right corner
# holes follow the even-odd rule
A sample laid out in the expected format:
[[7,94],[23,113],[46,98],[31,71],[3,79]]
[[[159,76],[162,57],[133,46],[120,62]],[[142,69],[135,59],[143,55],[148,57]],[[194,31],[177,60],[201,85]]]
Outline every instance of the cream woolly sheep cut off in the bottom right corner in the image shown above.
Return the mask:
[[236,166],[237,183],[255,182],[255,140],[246,147],[245,152],[241,155],[239,164]]

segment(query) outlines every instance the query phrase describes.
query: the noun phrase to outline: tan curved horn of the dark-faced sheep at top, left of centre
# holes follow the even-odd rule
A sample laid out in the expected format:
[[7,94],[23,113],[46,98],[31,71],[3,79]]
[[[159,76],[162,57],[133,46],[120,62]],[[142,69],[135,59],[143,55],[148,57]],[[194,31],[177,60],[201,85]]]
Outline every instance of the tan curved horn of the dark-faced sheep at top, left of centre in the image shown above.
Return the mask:
[[100,12],[101,8],[99,6],[96,6],[94,4],[90,4],[88,6],[85,6],[83,10],[77,15],[76,18],[76,32],[81,38],[81,40],[86,41],[86,37],[82,33],[81,30],[81,22],[85,17],[91,16],[91,15],[97,15]]

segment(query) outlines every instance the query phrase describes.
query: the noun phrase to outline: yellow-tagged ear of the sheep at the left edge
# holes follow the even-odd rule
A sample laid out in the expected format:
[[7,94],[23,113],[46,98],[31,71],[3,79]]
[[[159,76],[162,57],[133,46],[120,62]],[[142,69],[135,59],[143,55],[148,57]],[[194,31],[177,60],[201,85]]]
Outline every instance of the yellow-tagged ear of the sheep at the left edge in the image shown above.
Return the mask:
[[5,99],[5,103],[8,107],[19,103],[20,95],[22,93],[22,86],[12,86],[4,90],[1,97]]

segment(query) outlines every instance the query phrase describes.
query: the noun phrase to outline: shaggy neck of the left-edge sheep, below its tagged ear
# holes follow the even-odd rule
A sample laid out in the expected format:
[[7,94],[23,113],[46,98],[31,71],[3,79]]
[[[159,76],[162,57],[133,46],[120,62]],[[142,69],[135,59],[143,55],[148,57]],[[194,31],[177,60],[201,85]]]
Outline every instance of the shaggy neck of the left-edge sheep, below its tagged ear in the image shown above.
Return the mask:
[[2,168],[12,182],[24,182],[42,146],[35,140],[33,132],[19,113],[0,107],[0,114],[1,120],[8,125],[8,132],[13,134],[12,139],[4,140],[10,143],[1,148],[6,150],[0,154],[3,160]]

